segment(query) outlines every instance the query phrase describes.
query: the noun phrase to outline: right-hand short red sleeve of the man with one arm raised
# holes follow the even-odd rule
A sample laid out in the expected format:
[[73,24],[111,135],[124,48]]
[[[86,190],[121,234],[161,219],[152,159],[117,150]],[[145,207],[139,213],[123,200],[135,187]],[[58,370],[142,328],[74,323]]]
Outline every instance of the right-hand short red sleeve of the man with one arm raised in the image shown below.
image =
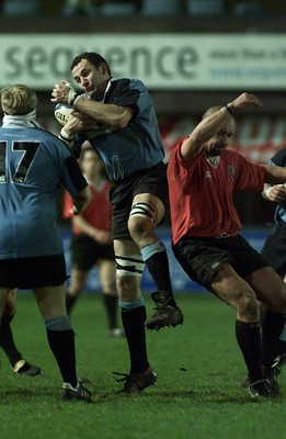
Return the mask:
[[234,192],[244,190],[262,192],[265,180],[265,166],[247,160],[238,154],[239,162],[236,170]]

